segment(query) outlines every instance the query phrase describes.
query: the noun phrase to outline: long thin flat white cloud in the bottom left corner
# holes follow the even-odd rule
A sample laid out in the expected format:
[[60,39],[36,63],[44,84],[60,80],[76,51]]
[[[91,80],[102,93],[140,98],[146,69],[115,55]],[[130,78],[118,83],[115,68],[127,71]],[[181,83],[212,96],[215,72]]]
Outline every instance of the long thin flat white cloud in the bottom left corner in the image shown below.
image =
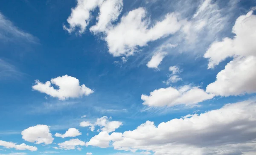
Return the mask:
[[25,149],[28,149],[30,151],[36,151],[37,150],[37,147],[29,146],[29,145],[26,145],[24,143],[20,144],[20,145],[17,145],[13,142],[1,141],[1,140],[0,140],[0,146],[6,147],[8,149],[15,148],[17,150],[25,150]]

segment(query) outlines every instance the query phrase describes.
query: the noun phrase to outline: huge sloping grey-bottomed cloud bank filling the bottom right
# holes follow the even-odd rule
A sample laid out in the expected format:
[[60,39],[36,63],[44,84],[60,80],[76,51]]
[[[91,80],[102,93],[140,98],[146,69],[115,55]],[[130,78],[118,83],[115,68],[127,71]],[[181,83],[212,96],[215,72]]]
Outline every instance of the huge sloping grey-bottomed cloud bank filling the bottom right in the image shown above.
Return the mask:
[[[256,152],[255,110],[256,101],[242,101],[157,126],[146,121],[111,141],[114,149],[147,150],[154,155],[246,155]],[[105,133],[97,139],[108,141],[109,136]]]

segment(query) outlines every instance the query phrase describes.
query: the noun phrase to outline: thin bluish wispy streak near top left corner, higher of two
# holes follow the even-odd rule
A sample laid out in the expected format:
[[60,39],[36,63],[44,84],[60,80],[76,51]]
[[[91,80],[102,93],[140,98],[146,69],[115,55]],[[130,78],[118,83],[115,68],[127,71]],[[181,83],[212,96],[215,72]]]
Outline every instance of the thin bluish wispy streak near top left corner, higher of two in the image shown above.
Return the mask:
[[38,39],[32,34],[26,33],[17,28],[13,23],[6,19],[0,12],[0,39],[5,42],[12,41],[26,41],[31,43],[38,43]]

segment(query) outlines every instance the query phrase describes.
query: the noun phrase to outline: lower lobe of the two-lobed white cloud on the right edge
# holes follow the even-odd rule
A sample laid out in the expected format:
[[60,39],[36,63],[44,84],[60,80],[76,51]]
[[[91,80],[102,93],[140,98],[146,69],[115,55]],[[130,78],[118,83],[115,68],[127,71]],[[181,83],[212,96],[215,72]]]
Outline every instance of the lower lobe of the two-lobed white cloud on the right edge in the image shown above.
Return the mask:
[[221,70],[216,81],[206,87],[208,93],[220,96],[256,93],[256,57],[235,58]]

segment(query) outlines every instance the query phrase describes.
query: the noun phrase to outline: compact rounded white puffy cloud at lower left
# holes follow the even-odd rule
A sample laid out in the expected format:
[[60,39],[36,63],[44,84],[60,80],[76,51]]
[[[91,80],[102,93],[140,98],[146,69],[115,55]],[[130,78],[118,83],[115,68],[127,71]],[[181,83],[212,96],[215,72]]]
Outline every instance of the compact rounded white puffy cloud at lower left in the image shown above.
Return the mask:
[[50,133],[49,126],[36,125],[29,127],[21,132],[22,138],[25,141],[35,142],[35,144],[52,144],[54,138]]

